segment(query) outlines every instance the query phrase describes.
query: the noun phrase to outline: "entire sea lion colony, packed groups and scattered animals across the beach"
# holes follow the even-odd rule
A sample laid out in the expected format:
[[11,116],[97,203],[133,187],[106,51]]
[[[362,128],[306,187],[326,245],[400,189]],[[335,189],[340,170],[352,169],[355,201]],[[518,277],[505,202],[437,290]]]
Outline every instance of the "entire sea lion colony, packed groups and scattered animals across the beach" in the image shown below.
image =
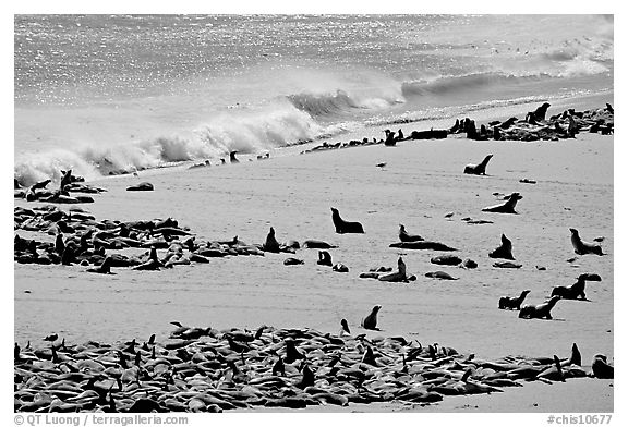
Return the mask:
[[[536,113],[530,114],[526,121],[528,125],[510,120],[500,125],[493,123],[493,126],[500,130],[500,138],[519,135],[517,132],[521,129],[540,126],[539,123],[545,120]],[[568,110],[552,120],[556,123],[560,120],[576,123],[571,131],[613,132],[613,112],[609,107],[584,113]],[[461,126],[458,121],[457,127]],[[555,130],[558,127],[554,125]],[[506,132],[508,130],[516,133]],[[413,132],[406,139],[418,135],[420,133]],[[571,136],[575,136],[575,132]],[[390,133],[388,138],[391,138]],[[480,174],[484,173],[486,163],[485,159]],[[466,172],[469,173],[469,170]],[[72,197],[69,192],[97,194],[105,191],[81,184],[83,180],[73,176],[72,171],[62,171],[62,174],[61,185],[53,192],[45,190],[49,180],[28,188],[22,188],[16,181],[15,196],[28,202],[76,204],[90,203],[93,199],[81,198],[85,196]],[[518,193],[514,193],[505,197],[505,205],[508,205],[509,199],[516,202],[520,198]],[[510,207],[514,208],[514,205]],[[514,209],[491,209],[486,211],[514,212]],[[337,232],[364,232],[359,222],[338,222],[338,218],[336,210],[333,220]],[[469,224],[492,223],[471,218],[462,220]],[[15,261],[93,266],[85,270],[86,273],[110,274],[113,273],[112,267],[159,270],[178,264],[205,264],[213,257],[264,256],[265,252],[294,254],[301,247],[294,241],[277,242],[273,228],[264,244],[246,244],[238,236],[225,241],[197,242],[193,232],[179,227],[178,221],[171,218],[130,222],[97,221],[81,208],[71,207],[65,212],[50,205],[32,209],[15,207],[14,229],[56,236],[52,243],[24,239],[16,233]],[[577,235],[576,230],[571,231]],[[499,257],[514,259],[511,242],[504,235],[502,241],[502,252],[506,245],[505,252],[509,256]],[[594,248],[583,251],[579,237],[576,241],[572,239],[572,243],[579,255],[602,255],[599,245],[584,242]],[[312,240],[304,242],[303,247],[336,246]],[[444,243],[409,234],[403,225],[400,225],[399,242],[390,244],[390,247],[457,251]],[[149,251],[128,256],[122,253],[126,248]],[[491,255],[495,257],[500,248]],[[166,249],[166,254],[159,257],[157,249]],[[432,263],[452,266],[459,265],[461,259],[447,255],[434,257]],[[303,263],[288,258],[285,264]],[[319,255],[318,264],[331,266],[328,253]],[[461,268],[476,266],[471,259],[460,265]],[[341,264],[334,267],[336,271],[348,271]],[[506,261],[495,263],[494,267],[519,268],[521,265]],[[389,282],[416,280],[406,269],[406,264],[399,257],[398,271],[391,272],[389,267],[375,267],[360,277]],[[443,271],[427,272],[425,276],[456,279]],[[504,296],[499,301],[499,308],[517,309],[521,318],[551,318],[550,310],[560,298],[584,298],[587,280],[600,281],[601,278],[592,273],[581,274],[575,285],[557,286],[553,297],[539,305],[521,307],[528,292],[523,292],[520,297]],[[375,306],[374,314],[366,318],[369,325],[363,321],[364,328],[376,329],[376,312],[379,308]],[[374,322],[371,318],[373,316]],[[346,322],[345,327],[349,329]],[[29,343],[24,349],[15,343],[15,410],[218,412],[254,405],[304,407],[322,403],[346,405],[348,402],[392,400],[428,403],[439,401],[447,394],[502,391],[500,387],[520,386],[522,380],[564,381],[565,378],[587,375],[579,367],[580,363],[571,364],[571,359],[557,362],[556,356],[541,359],[506,357],[496,362],[474,361],[472,355],[463,357],[452,349],[437,347],[436,344],[423,349],[421,344],[408,342],[403,338],[369,341],[364,335],[348,338],[348,334],[346,330],[342,337],[336,337],[311,329],[275,330],[262,327],[252,335],[237,329],[218,332],[212,328],[179,326],[167,341],[157,343],[153,337],[143,345],[137,345],[133,340],[123,346],[94,341],[70,346],[64,341],[59,344],[58,337],[52,335],[47,338],[51,342],[49,349],[34,351]],[[604,365],[597,371],[604,371],[603,376],[607,378],[613,366],[606,364],[603,355],[596,356],[594,363],[597,367]],[[595,376],[595,373],[591,375]]]

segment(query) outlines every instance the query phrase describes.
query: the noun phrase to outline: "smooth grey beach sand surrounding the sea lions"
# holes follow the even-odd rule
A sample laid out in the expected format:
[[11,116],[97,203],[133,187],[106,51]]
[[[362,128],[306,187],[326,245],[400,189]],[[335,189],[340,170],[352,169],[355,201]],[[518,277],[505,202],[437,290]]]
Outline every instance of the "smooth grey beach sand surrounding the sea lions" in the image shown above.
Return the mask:
[[[606,101],[612,101],[612,94],[564,103],[580,109],[603,107]],[[524,115],[526,108],[518,106],[515,114]],[[550,114],[563,109],[552,107]],[[482,114],[512,113],[502,109]],[[403,129],[409,133],[431,125]],[[383,135],[381,131],[374,129],[373,136]],[[587,365],[596,353],[612,361],[613,141],[592,134],[556,143],[471,142],[450,136],[403,142],[397,147],[278,156],[267,161],[100,180],[94,184],[108,192],[84,206],[98,219],[172,217],[200,240],[238,235],[251,243],[264,242],[268,228],[274,227],[279,241],[318,239],[337,244],[339,248],[330,251],[333,259],[350,271],[337,273],[317,266],[315,249],[298,251],[295,256],[305,260],[303,266],[287,267],[282,261],[288,255],[267,254],[212,259],[207,265],[159,272],[116,269],[116,276],[107,277],[86,273],[80,266],[15,265],[15,340],[31,340],[40,346],[41,338],[50,332],[68,342],[146,340],[150,333],[167,334],[171,320],[218,329],[253,329],[265,324],[337,332],[340,319],[347,318],[352,332],[362,333],[361,318],[381,304],[382,331],[369,335],[404,335],[424,345],[438,342],[478,358],[518,354],[566,357],[576,342]],[[462,174],[467,163],[479,162],[488,152],[494,157],[487,176]],[[387,163],[384,170],[375,167],[379,162]],[[523,178],[538,183],[520,183]],[[141,181],[150,181],[155,192],[125,192],[128,185]],[[494,192],[520,192],[519,215],[482,212],[483,207],[498,202]],[[336,234],[331,206],[345,219],[361,221],[365,234]],[[447,219],[447,212],[454,216]],[[469,225],[461,221],[468,216],[494,223]],[[458,256],[474,259],[479,268],[436,266],[430,258],[439,253],[389,248],[397,241],[399,223],[411,233],[458,248]],[[608,255],[588,255],[568,263],[576,256],[569,228],[580,230],[584,240],[604,236],[602,246]],[[487,254],[498,246],[502,233],[512,241],[521,269],[492,267],[494,259]],[[395,266],[400,254],[409,272],[418,276],[415,282],[358,278],[371,267]],[[460,279],[424,277],[435,270]],[[528,303],[540,303],[553,286],[570,285],[582,272],[596,272],[603,281],[588,283],[589,302],[558,302],[554,320],[522,320],[517,312],[497,309],[500,296],[518,295],[523,289],[532,291]],[[613,381],[579,379],[565,385],[527,385],[494,395],[445,398],[430,407],[351,405],[340,411],[612,412],[612,386]],[[339,408],[309,411],[329,410]]]

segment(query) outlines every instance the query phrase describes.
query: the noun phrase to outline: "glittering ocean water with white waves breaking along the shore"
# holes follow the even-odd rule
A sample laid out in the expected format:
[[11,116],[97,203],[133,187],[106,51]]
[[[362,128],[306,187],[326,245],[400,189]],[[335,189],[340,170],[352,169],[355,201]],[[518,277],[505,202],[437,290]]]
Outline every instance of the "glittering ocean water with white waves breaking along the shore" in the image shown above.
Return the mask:
[[258,154],[613,89],[602,15],[16,15],[15,178]]

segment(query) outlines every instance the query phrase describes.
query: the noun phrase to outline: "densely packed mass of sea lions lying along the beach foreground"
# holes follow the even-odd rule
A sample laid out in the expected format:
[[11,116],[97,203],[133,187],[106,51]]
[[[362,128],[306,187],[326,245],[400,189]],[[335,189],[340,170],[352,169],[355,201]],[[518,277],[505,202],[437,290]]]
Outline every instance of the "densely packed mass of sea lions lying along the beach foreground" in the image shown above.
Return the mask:
[[[363,320],[375,328],[381,306]],[[430,404],[446,395],[502,392],[528,381],[614,378],[596,354],[582,368],[578,346],[569,357],[507,356],[496,361],[460,354],[437,343],[424,347],[403,337],[339,334],[313,329],[257,331],[186,327],[158,341],[14,346],[15,412],[216,413],[255,406],[400,402]]]

